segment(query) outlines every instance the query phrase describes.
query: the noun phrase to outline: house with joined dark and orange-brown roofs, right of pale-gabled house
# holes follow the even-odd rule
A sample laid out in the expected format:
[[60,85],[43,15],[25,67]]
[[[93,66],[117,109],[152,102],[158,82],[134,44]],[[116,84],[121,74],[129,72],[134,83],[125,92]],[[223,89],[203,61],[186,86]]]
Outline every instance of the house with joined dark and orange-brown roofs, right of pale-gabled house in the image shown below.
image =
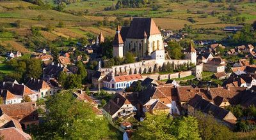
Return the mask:
[[150,84],[141,92],[132,92],[127,99],[138,109],[136,116],[143,120],[145,113],[166,113],[180,115],[179,99],[176,87],[172,84]]

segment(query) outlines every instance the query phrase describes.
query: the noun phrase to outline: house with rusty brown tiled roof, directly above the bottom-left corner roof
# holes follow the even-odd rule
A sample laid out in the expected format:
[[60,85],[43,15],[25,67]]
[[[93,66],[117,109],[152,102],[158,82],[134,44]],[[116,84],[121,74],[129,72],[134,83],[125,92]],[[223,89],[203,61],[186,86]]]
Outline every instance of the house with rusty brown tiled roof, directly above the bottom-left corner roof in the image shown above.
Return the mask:
[[22,129],[29,129],[32,125],[38,125],[39,123],[35,102],[3,104],[0,105],[0,113],[19,121]]

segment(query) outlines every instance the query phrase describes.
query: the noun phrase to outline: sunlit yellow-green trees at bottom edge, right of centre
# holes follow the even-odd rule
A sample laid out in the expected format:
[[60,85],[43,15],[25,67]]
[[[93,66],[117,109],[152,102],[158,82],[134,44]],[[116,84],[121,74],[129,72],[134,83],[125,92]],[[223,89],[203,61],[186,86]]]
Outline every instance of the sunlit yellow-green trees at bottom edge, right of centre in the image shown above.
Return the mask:
[[172,118],[164,113],[147,113],[132,139],[200,139],[200,134],[193,116]]

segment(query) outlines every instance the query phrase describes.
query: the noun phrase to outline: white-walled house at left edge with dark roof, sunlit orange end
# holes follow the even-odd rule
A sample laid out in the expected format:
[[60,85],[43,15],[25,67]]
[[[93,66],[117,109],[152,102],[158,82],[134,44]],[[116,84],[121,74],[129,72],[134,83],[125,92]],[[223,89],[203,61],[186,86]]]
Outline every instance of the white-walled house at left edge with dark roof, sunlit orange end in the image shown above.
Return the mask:
[[16,99],[11,100],[11,102],[6,102],[6,104],[20,103],[25,96],[30,97],[31,101],[36,101],[39,98],[38,92],[31,90],[24,84],[10,83],[4,81],[0,84],[0,90],[1,89],[8,90],[16,97]]

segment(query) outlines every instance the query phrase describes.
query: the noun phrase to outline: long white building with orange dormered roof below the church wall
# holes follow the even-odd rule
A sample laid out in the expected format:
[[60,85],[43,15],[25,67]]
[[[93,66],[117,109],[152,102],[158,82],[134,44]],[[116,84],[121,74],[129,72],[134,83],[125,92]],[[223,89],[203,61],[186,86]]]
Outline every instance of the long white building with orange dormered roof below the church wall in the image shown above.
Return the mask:
[[107,75],[103,78],[103,88],[108,90],[117,90],[130,87],[133,81],[141,80],[141,74],[131,74],[123,76]]

